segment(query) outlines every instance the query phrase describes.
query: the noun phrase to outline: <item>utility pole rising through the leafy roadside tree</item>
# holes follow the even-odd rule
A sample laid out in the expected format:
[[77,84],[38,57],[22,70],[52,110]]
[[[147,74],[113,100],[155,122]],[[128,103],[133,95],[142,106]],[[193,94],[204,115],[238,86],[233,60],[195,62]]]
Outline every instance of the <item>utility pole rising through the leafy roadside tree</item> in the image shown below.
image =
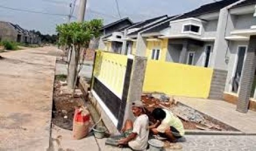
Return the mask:
[[[86,8],[86,0],[80,0],[77,22],[84,21],[85,8]],[[70,64],[69,64],[69,75],[68,75],[68,88],[69,89],[73,89],[74,85],[75,85],[75,77],[77,77],[77,68],[78,68],[78,60],[77,60],[78,55],[80,55],[79,52],[75,52],[75,49],[72,48]]]

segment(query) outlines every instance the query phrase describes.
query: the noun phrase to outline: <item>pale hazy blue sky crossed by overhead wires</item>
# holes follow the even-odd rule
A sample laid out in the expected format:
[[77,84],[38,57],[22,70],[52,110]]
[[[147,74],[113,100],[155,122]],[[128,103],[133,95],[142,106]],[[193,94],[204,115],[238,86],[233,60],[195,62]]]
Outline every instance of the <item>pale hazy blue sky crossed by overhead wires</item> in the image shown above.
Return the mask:
[[[56,33],[56,25],[68,21],[70,2],[75,0],[0,0],[0,20],[19,24],[27,30],[38,30],[44,34]],[[177,15],[196,9],[214,0],[117,0],[121,18],[129,17],[133,22],[161,15]],[[74,16],[77,16],[77,0]],[[50,14],[35,14],[2,7],[40,11]],[[104,25],[119,19],[115,0],[88,0],[85,20],[104,19]],[[72,19],[75,21],[75,18]]]

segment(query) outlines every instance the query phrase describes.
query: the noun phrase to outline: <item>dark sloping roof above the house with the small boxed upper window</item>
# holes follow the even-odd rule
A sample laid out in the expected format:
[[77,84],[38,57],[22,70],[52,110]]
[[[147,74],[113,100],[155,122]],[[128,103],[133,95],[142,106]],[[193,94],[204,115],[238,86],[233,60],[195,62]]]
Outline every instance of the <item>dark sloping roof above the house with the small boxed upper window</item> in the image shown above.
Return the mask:
[[[181,15],[177,19],[193,18],[193,17],[199,16],[199,15],[215,13],[217,11],[220,11],[220,9],[227,7],[228,5],[231,5],[237,1],[239,1],[239,0],[222,0],[222,1],[217,1],[214,3],[201,5],[201,7]],[[248,0],[248,1],[250,1],[250,0]],[[252,1],[255,1],[255,0],[252,0]]]

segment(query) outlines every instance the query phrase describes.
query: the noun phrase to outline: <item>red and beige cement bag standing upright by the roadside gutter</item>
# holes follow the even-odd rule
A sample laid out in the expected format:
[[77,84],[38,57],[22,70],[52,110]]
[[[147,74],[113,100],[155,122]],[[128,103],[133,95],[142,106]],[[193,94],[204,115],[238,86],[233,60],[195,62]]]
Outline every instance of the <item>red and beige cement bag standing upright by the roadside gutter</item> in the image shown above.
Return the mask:
[[90,114],[87,108],[75,108],[73,120],[73,139],[79,140],[89,133]]

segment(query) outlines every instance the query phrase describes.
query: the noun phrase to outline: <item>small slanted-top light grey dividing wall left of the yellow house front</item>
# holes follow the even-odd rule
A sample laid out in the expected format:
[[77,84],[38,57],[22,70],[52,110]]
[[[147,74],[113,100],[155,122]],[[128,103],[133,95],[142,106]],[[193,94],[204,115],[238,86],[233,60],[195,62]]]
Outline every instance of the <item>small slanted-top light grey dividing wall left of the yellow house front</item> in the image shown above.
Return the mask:
[[137,36],[136,55],[146,56],[146,38],[142,37],[140,33]]

